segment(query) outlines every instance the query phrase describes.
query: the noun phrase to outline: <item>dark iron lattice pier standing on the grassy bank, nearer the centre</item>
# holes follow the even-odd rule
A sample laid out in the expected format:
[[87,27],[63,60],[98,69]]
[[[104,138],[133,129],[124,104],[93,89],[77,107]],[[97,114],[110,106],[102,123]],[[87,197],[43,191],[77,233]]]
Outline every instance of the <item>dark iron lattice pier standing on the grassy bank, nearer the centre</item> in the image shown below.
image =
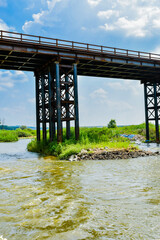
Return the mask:
[[40,141],[41,124],[43,140],[47,139],[47,124],[50,140],[56,137],[62,142],[63,122],[66,122],[66,137],[70,138],[70,121],[75,121],[75,138],[79,138],[77,64],[61,66],[55,62],[47,69],[35,72],[36,77],[36,122],[37,140]]

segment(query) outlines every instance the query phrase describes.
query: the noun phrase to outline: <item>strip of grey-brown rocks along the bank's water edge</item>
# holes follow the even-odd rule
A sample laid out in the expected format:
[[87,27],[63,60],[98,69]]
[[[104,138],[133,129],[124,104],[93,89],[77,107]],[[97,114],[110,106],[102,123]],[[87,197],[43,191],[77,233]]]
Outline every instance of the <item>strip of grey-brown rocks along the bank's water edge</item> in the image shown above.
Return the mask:
[[81,161],[81,160],[118,160],[118,159],[130,159],[137,157],[156,156],[159,152],[150,152],[137,149],[94,149],[94,150],[82,150],[77,155],[72,155],[69,161]]

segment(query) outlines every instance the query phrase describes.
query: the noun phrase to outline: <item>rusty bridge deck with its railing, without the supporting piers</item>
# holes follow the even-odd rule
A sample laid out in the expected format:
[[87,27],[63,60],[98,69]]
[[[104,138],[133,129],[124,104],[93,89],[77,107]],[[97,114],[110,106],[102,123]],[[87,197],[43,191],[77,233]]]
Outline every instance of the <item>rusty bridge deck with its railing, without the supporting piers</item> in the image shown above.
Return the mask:
[[60,61],[78,75],[159,81],[160,55],[0,31],[0,69],[37,71]]

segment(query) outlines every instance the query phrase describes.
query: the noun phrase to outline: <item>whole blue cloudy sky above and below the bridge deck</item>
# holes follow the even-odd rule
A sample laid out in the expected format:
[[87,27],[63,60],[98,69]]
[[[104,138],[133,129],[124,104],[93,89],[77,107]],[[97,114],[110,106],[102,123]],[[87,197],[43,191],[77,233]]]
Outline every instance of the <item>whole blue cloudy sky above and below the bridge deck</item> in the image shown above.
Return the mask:
[[[158,0],[0,0],[0,30],[160,53]],[[81,126],[144,122],[143,85],[78,77]],[[0,119],[35,126],[33,73],[0,70]]]

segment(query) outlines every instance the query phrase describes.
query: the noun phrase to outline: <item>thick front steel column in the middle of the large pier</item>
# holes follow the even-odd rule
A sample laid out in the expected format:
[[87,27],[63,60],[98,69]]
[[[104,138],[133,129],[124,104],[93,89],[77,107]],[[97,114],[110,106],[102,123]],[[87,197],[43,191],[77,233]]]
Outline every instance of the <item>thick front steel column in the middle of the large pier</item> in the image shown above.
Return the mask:
[[61,122],[61,89],[59,63],[56,62],[56,108],[57,108],[57,141],[62,142],[62,122]]

